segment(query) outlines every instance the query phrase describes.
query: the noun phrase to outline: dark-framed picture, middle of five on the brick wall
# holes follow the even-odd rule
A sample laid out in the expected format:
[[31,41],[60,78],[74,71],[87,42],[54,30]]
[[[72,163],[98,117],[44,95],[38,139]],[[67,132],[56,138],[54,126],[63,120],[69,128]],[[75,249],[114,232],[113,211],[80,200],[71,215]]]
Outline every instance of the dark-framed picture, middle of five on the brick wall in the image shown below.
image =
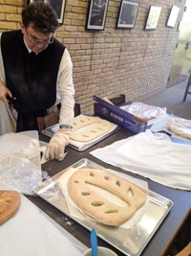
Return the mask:
[[138,13],[138,2],[122,0],[117,19],[117,28],[133,29]]

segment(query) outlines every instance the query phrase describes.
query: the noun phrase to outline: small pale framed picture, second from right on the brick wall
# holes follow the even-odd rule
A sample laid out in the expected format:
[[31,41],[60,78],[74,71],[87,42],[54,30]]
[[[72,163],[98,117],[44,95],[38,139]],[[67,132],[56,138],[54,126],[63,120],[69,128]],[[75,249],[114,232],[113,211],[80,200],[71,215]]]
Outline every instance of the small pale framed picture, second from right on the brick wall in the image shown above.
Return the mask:
[[157,29],[160,12],[161,12],[161,7],[150,6],[147,21],[145,24],[145,30],[156,30]]

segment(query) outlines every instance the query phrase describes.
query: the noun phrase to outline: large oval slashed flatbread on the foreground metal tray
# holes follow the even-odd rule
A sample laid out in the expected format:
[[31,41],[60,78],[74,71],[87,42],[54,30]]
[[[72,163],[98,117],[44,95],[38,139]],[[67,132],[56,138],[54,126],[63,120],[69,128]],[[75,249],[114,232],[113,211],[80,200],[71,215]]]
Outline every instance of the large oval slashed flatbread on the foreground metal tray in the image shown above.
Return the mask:
[[[59,183],[61,183],[62,176]],[[97,194],[94,185],[120,198],[125,206]],[[146,201],[143,190],[126,179],[96,169],[80,169],[68,182],[68,191],[75,204],[86,214],[106,224],[119,225],[128,221]]]

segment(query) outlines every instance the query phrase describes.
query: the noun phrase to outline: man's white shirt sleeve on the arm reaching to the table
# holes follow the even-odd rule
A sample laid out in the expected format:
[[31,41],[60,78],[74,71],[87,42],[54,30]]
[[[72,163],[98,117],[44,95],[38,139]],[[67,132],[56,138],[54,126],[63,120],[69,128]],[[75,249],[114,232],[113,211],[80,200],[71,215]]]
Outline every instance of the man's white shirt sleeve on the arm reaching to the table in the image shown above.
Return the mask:
[[74,83],[73,62],[65,48],[57,76],[57,100],[61,102],[59,125],[73,127],[74,124]]

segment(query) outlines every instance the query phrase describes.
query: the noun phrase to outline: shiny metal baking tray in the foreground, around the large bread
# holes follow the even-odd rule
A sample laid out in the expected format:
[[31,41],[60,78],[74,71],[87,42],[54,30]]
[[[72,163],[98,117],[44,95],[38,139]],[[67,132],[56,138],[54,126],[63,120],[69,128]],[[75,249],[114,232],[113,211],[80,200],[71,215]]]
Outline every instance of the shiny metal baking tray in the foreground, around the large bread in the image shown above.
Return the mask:
[[135,223],[132,229],[104,225],[96,221],[89,221],[88,219],[77,219],[71,216],[65,198],[57,184],[60,175],[70,168],[78,170],[81,168],[103,169],[104,167],[87,158],[83,158],[37,186],[35,188],[36,194],[87,229],[92,230],[95,228],[98,237],[108,244],[112,244],[124,254],[128,256],[140,255],[172,208],[173,202],[150,190],[145,190],[149,198],[148,208],[144,212],[142,219]]

